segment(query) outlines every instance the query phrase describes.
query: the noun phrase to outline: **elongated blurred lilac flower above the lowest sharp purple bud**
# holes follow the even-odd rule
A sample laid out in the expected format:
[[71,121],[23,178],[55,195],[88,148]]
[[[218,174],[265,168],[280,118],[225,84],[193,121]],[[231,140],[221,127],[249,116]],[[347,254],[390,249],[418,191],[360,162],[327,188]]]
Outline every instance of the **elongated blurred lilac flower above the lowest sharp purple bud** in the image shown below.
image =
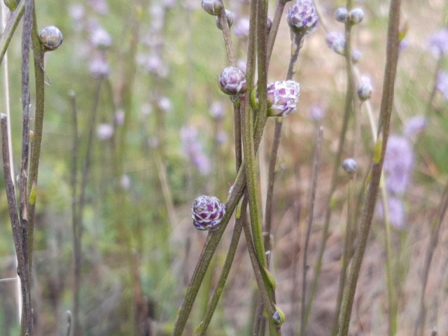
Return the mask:
[[183,142],[183,151],[190,158],[193,165],[202,175],[211,172],[211,163],[207,155],[204,153],[202,144],[197,139],[197,129],[193,126],[182,127],[181,139]]

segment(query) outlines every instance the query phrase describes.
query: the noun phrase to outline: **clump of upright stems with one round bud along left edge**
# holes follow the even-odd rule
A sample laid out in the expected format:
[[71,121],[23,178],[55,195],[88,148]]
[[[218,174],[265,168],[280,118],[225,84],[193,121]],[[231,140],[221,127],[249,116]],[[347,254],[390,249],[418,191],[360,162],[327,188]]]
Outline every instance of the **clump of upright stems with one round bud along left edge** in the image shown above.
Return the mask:
[[[15,251],[18,258],[18,276],[20,278],[20,293],[22,312],[20,314],[21,335],[33,335],[34,322],[31,307],[31,265],[33,257],[33,233],[36,214],[36,195],[38,167],[41,154],[41,141],[43,136],[43,112],[44,112],[44,62],[45,52],[55,50],[62,44],[62,32],[57,27],[46,27],[38,32],[34,1],[23,0],[19,3],[6,1],[10,10],[8,23],[3,31],[0,41],[1,56],[6,53],[15,28],[20,20],[23,21],[22,29],[22,155],[20,171],[18,172],[17,186],[19,195],[15,191],[15,182],[11,176],[9,144],[8,144],[8,120],[1,114],[1,139],[3,172],[6,184],[6,196],[10,221],[13,231]],[[30,57],[33,55],[33,57]],[[36,98],[31,102],[30,94],[30,64],[29,59],[34,59],[34,76]],[[34,111],[34,125],[31,125],[31,105],[36,106]]]

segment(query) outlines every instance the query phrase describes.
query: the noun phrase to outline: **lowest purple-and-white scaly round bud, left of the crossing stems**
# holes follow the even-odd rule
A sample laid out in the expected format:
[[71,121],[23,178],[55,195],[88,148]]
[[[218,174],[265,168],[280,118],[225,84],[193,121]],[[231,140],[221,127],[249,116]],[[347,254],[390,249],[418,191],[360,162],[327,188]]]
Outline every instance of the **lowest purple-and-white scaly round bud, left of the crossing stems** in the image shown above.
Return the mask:
[[197,230],[213,230],[223,219],[225,205],[214,196],[202,195],[193,202],[191,213]]

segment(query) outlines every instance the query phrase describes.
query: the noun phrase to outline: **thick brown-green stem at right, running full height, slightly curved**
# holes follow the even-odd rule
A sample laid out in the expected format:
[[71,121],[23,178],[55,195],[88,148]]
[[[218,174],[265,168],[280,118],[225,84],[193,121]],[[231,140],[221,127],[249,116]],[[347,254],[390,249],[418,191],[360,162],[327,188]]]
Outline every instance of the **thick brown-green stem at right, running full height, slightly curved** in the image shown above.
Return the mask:
[[345,336],[349,333],[349,323],[353,299],[356,292],[356,284],[360,272],[360,266],[363,261],[363,255],[367,246],[367,237],[370,232],[370,225],[374,213],[374,207],[377,200],[379,182],[381,180],[381,169],[386,152],[389,124],[393,108],[393,95],[395,89],[395,73],[398,63],[398,28],[400,25],[400,0],[392,0],[389,9],[388,36],[386,50],[386,66],[384,69],[383,93],[381,97],[381,109],[379,117],[379,141],[375,144],[374,160],[371,168],[371,179],[363,216],[358,233],[358,246],[356,246],[353,262],[350,267],[349,279],[344,290],[342,299],[342,311],[339,317],[339,336]]

